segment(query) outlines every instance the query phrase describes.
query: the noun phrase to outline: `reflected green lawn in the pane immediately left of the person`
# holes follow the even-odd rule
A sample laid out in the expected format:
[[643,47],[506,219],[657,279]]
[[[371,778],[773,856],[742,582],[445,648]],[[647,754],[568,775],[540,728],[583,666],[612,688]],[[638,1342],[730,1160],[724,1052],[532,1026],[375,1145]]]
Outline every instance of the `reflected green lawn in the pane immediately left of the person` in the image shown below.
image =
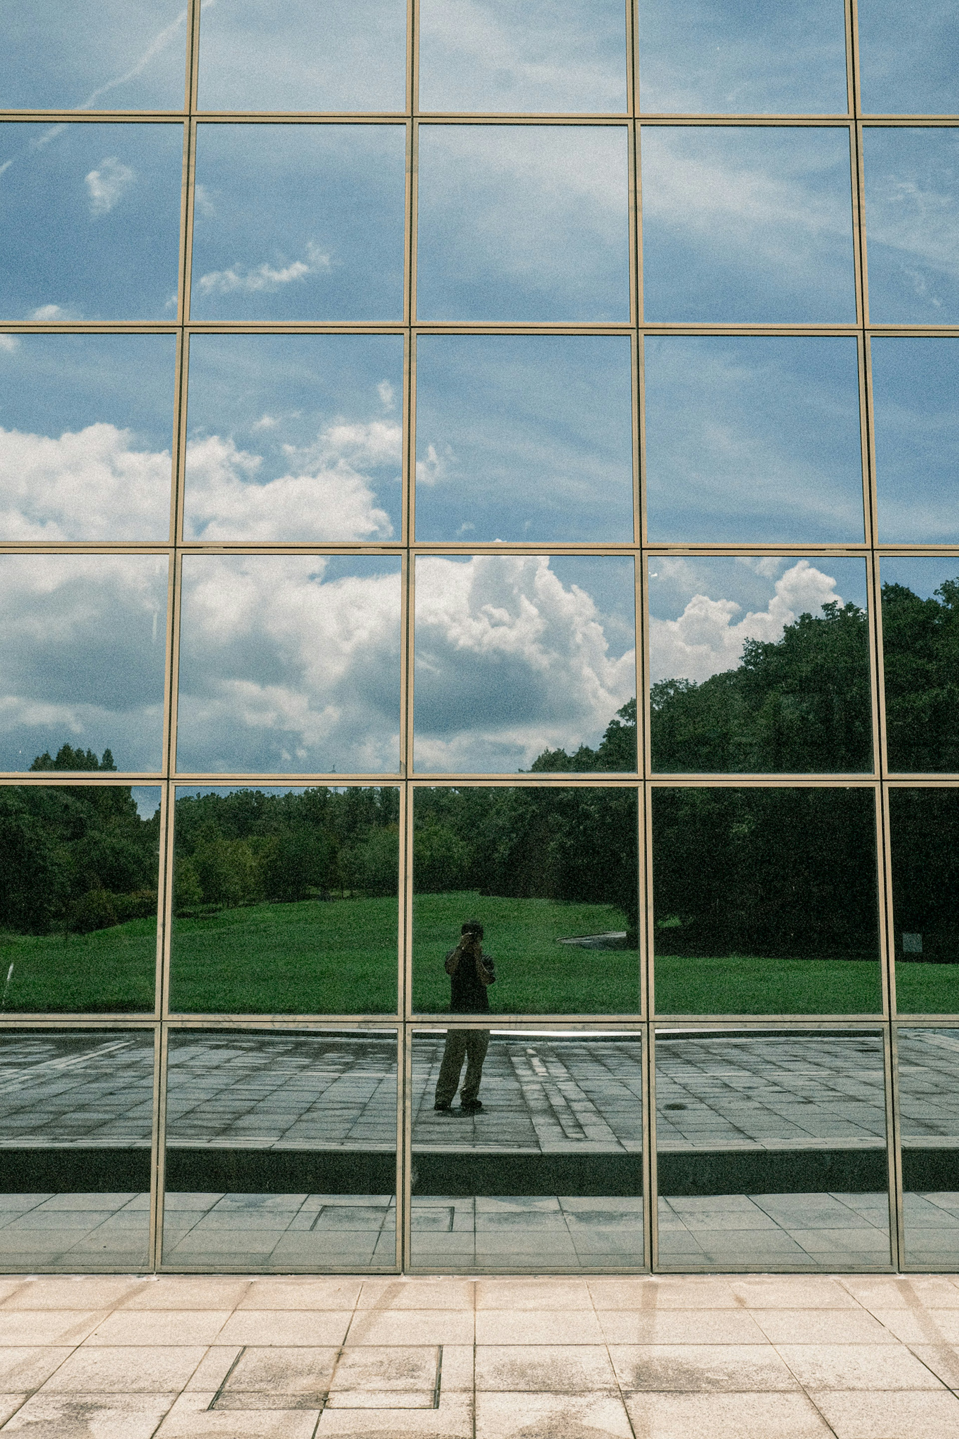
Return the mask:
[[170,1007],[393,1014],[397,915],[395,898],[303,899],[174,920]]

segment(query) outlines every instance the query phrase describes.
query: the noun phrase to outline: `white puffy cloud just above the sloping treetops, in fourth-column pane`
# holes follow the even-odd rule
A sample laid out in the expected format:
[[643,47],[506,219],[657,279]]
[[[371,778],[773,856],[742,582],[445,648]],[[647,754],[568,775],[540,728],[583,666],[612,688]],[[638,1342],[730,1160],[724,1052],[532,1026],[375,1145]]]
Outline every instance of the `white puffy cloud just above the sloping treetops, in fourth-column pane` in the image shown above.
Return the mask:
[[[763,573],[758,567],[756,571]],[[748,639],[778,640],[786,625],[805,612],[818,614],[830,600],[843,603],[835,580],[808,560],[799,560],[776,580],[765,610],[749,612],[742,619],[738,619],[742,606],[735,600],[693,594],[679,619],[650,620],[653,681],[693,679],[700,684],[720,671],[735,669]]]

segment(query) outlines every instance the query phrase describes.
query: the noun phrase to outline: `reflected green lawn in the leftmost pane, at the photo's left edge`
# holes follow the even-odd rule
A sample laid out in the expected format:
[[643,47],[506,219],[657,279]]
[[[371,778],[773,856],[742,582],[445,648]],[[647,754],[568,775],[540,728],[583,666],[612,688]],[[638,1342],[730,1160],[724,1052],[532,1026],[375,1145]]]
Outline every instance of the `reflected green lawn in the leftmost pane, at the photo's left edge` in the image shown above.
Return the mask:
[[111,1010],[154,1007],[157,921],[92,934],[6,934],[0,940],[0,993],[13,964],[3,1012]]

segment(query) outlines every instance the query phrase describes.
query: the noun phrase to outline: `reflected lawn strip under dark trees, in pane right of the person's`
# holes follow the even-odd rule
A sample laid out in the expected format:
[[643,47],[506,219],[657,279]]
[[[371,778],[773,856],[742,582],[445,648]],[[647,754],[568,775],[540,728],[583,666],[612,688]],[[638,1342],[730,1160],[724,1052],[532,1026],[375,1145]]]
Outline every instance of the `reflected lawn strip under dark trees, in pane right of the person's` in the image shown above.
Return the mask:
[[656,955],[659,1014],[876,1014],[878,961]]

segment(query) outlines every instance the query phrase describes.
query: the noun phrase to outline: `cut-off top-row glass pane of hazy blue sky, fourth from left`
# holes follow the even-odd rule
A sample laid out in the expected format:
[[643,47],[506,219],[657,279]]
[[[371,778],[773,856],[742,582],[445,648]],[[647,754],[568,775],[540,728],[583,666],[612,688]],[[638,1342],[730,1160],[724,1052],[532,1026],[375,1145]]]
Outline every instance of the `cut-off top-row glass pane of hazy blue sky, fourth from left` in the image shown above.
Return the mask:
[[845,114],[841,0],[641,0],[647,115]]

